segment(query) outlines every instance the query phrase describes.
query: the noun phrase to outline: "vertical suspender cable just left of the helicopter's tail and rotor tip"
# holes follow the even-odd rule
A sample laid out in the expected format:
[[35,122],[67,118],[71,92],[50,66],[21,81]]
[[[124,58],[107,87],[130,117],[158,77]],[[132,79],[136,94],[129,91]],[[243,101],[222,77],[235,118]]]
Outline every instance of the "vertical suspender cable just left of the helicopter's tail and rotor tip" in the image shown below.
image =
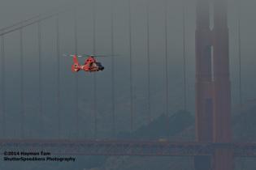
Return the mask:
[[59,46],[59,15],[56,16],[56,57],[57,57],[57,117],[58,117],[58,137],[61,137],[61,117],[60,117],[60,46]]

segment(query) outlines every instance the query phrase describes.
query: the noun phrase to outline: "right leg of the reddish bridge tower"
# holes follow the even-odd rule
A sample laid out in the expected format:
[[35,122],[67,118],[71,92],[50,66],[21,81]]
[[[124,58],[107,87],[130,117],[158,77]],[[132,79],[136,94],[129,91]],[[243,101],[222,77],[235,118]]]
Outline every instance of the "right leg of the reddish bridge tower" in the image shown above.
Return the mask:
[[[228,57],[227,0],[214,1],[213,70],[214,117],[213,142],[232,142],[231,133],[231,85]],[[215,151],[215,170],[232,170],[233,154],[226,149]]]

